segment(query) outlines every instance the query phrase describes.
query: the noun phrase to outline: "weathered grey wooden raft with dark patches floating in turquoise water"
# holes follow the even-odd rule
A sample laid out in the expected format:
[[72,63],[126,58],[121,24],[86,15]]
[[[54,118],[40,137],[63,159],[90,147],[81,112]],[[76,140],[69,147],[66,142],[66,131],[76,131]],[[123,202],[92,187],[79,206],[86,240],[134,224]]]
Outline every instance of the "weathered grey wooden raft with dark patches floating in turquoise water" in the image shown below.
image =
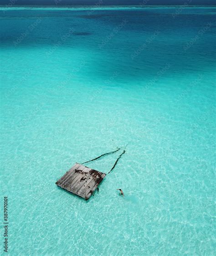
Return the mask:
[[58,187],[88,200],[105,176],[106,174],[103,172],[76,163],[62,178],[57,179],[56,184]]

